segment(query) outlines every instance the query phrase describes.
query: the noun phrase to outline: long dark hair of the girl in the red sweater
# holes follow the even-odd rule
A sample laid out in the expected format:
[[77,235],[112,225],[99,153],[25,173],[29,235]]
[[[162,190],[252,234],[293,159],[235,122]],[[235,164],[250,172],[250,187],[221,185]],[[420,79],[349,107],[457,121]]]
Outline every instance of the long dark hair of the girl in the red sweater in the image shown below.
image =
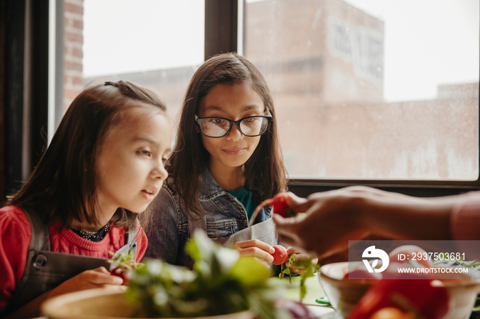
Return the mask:
[[[167,110],[154,92],[127,81],[105,82],[82,91],[27,183],[9,197],[8,204],[32,209],[45,221],[60,220],[62,227],[69,227],[73,219],[96,223],[97,151],[111,127],[139,103]],[[133,227],[136,216],[119,208],[111,221],[118,227]]]

